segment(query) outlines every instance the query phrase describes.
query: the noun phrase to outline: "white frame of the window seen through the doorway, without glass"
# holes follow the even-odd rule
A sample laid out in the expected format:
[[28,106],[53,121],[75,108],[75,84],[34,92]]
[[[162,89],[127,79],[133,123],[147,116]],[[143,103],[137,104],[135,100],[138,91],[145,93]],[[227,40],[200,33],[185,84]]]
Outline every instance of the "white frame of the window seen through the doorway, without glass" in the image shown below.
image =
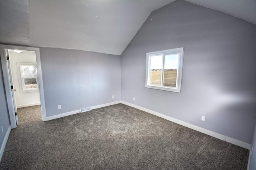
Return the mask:
[[[39,91],[37,67],[36,67],[37,77],[22,77],[22,66],[36,66],[36,63],[17,63],[18,77],[19,77],[19,83],[20,83],[20,93]],[[26,78],[36,78],[37,88],[26,89],[25,83],[24,83],[24,79]]]

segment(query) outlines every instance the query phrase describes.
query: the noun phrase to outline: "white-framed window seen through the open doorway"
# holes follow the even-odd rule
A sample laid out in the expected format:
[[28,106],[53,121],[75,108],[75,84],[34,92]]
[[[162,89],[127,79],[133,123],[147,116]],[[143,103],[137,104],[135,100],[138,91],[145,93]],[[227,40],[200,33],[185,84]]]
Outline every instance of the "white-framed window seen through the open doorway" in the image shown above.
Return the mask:
[[17,63],[20,70],[20,93],[38,91],[36,63]]

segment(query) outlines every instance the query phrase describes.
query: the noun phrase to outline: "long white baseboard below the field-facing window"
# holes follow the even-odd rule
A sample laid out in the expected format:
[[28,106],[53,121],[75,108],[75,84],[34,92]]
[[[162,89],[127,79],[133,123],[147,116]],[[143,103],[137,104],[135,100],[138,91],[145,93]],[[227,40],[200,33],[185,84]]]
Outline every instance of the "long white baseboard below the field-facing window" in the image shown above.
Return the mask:
[[230,138],[228,136],[225,136],[223,134],[219,134],[219,133],[216,133],[216,132],[213,132],[213,131],[210,131],[210,130],[207,130],[205,128],[201,128],[201,127],[198,127],[196,125],[192,125],[190,123],[186,123],[184,121],[180,121],[178,119],[175,119],[173,117],[169,117],[169,116],[166,116],[166,115],[163,115],[161,113],[158,113],[158,112],[155,112],[155,111],[152,111],[152,110],[149,110],[149,109],[146,109],[144,107],[140,107],[140,106],[137,106],[137,105],[134,105],[132,103],[128,103],[128,102],[125,102],[125,101],[121,101],[122,104],[124,105],[128,105],[130,107],[134,107],[136,109],[139,109],[139,110],[142,110],[142,111],[145,111],[147,113],[151,113],[152,115],[156,115],[158,117],[161,117],[163,119],[166,119],[168,121],[171,121],[171,122],[174,122],[174,123],[177,123],[179,125],[182,125],[184,127],[188,127],[188,128],[191,128],[193,130],[196,130],[198,132],[202,132],[204,134],[208,134],[209,136],[212,136],[212,137],[215,137],[215,138],[218,138],[220,140],[224,140],[226,142],[229,142],[229,143],[232,143],[232,144],[235,144],[237,146],[240,146],[242,148],[246,148],[246,149],[250,149],[251,148],[251,144],[248,144],[246,142],[242,142],[240,140],[236,140],[234,138]]

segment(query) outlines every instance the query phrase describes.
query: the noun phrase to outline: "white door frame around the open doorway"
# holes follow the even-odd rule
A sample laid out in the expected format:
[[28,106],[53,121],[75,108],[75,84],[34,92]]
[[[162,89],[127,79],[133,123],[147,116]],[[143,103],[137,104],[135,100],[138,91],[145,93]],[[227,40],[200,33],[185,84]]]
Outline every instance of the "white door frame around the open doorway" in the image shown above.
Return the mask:
[[13,100],[12,100],[12,91],[11,91],[11,85],[10,85],[8,63],[7,63],[7,59],[6,59],[6,56],[7,56],[6,49],[36,51],[36,65],[37,65],[38,81],[39,81],[39,88],[40,88],[42,120],[46,121],[46,108],[45,108],[45,100],[44,100],[44,85],[43,85],[43,78],[42,78],[40,49],[38,47],[25,47],[25,46],[17,46],[17,45],[0,44],[0,55],[1,55],[2,71],[3,71],[3,78],[4,78],[4,87],[5,87],[8,111],[9,111],[9,115],[10,115],[11,127],[16,128],[17,125],[16,125],[16,119],[15,119],[15,113],[14,113],[14,105],[13,105]]

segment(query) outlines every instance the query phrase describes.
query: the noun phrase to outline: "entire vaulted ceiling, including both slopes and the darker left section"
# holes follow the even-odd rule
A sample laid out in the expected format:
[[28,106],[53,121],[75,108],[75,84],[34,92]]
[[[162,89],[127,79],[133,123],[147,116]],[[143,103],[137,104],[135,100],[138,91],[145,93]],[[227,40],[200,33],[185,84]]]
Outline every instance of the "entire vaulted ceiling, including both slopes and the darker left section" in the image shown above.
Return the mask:
[[[0,43],[120,55],[150,13],[174,0],[1,0]],[[256,0],[187,0],[256,24]]]

